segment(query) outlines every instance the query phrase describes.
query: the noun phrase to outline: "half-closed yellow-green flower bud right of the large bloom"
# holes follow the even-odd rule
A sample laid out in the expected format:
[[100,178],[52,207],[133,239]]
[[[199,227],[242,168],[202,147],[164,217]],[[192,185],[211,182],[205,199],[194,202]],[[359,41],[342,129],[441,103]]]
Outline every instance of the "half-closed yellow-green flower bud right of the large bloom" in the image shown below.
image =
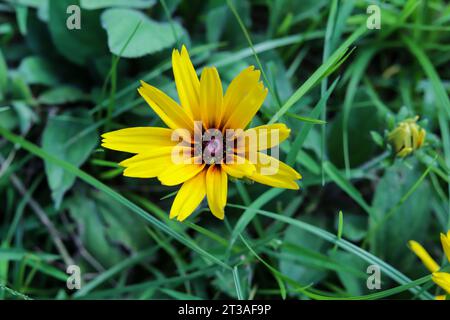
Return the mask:
[[406,119],[389,133],[388,141],[400,158],[421,148],[425,142],[426,131],[417,124],[417,120],[419,120],[418,116]]

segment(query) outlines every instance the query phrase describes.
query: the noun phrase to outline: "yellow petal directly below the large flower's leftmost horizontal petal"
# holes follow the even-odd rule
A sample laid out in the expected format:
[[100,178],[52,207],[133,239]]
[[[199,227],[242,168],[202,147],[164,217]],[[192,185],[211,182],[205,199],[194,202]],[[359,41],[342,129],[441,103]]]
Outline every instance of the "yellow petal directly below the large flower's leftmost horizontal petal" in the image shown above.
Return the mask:
[[161,147],[151,152],[140,153],[119,163],[126,167],[123,175],[133,178],[154,178],[167,169],[167,164],[172,161],[174,150],[190,153],[191,148]]

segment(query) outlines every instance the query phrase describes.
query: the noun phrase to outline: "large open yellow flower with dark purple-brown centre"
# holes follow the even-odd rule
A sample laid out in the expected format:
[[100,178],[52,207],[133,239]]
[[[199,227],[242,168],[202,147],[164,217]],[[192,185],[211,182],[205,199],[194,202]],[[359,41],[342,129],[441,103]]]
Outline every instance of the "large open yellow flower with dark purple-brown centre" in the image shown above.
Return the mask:
[[[180,221],[205,196],[213,215],[223,219],[228,176],[299,188],[300,174],[265,153],[285,140],[290,129],[276,123],[245,130],[267,95],[258,70],[243,70],[223,95],[216,68],[205,67],[199,79],[184,46],[181,53],[173,51],[172,67],[181,106],[143,81],[138,89],[168,128],[133,127],[102,135],[103,147],[136,154],[120,163],[124,176],[182,184],[170,210],[170,218]],[[174,161],[180,153],[181,161]]]

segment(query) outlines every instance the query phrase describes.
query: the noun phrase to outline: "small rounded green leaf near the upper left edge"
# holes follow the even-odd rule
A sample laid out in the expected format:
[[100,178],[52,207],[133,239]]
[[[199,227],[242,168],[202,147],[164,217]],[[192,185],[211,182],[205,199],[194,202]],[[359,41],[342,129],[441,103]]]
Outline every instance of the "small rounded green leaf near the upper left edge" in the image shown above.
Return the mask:
[[28,84],[53,86],[58,83],[55,68],[44,58],[30,56],[23,59],[18,72]]

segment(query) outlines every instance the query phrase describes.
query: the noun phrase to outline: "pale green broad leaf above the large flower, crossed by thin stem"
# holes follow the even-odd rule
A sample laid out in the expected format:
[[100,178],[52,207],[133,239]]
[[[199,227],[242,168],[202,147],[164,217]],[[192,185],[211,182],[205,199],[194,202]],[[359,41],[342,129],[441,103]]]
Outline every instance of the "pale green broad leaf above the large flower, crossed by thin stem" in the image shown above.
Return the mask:
[[[102,13],[101,21],[108,34],[109,50],[121,57],[142,57],[170,48],[176,42],[170,23],[157,22],[140,11],[108,9]],[[139,22],[141,22],[141,25],[123,50],[130,34]],[[179,24],[174,23],[173,27],[177,35],[184,33]]]

